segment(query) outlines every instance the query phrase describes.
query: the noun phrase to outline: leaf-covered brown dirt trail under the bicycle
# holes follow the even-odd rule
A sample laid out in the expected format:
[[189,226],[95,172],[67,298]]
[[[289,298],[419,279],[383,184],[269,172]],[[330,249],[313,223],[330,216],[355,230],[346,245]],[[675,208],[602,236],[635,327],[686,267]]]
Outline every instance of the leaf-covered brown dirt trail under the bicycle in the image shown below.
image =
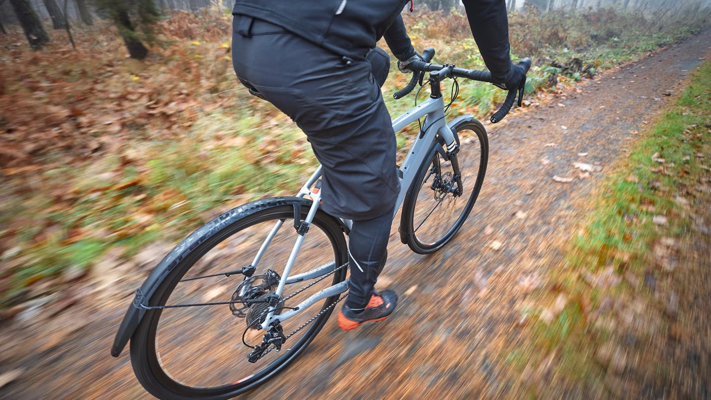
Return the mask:
[[[401,293],[395,315],[350,334],[333,318],[287,372],[249,397],[472,399],[510,390],[499,350],[520,334],[520,281],[560,265],[590,190],[624,156],[634,133],[675,99],[710,47],[706,31],[488,126],[486,181],[459,236],[423,257],[400,244],[393,229],[379,286]],[[575,161],[602,171],[579,178]],[[554,175],[574,180],[557,183]],[[503,244],[498,251],[493,240]],[[119,283],[120,294],[80,300],[57,318],[2,327],[0,372],[23,373],[0,388],[0,399],[151,398],[134,378],[127,352],[109,356],[139,278]],[[47,335],[28,336],[39,330]],[[572,395],[582,396],[580,390]]]

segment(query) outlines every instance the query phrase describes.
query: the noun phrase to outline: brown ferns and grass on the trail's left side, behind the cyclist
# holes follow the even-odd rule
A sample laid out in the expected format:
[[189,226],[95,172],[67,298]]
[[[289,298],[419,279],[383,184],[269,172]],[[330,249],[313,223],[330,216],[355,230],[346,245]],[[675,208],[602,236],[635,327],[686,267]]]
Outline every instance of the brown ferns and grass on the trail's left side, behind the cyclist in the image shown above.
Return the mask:
[[[706,15],[519,12],[510,17],[511,46],[514,59],[534,60],[528,92],[550,92],[688,37],[705,26]],[[483,67],[464,16],[414,13],[406,23],[417,50],[432,46],[435,60]],[[59,33],[31,50],[18,28],[5,28],[4,308],[60,290],[109,249],[133,256],[156,240],[175,242],[220,210],[294,193],[314,165],[296,126],[237,84],[228,13],[169,13],[151,31],[142,61],[129,58],[111,21],[74,27],[75,50]],[[383,95],[392,114],[412,107],[413,97],[391,96],[408,79],[391,68]],[[486,118],[505,96],[491,85],[460,84],[457,112]],[[397,134],[400,148],[416,129]]]

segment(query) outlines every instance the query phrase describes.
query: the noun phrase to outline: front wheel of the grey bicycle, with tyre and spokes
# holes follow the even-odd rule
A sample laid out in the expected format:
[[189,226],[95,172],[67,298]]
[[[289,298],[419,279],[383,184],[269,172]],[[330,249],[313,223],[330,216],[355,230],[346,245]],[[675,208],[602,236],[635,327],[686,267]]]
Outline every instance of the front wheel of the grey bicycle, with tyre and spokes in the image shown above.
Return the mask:
[[400,234],[418,254],[437,252],[454,237],[469,217],[483,184],[488,161],[486,130],[475,119],[462,122],[454,131],[459,137],[459,173],[452,161],[437,151],[436,144],[405,196]]

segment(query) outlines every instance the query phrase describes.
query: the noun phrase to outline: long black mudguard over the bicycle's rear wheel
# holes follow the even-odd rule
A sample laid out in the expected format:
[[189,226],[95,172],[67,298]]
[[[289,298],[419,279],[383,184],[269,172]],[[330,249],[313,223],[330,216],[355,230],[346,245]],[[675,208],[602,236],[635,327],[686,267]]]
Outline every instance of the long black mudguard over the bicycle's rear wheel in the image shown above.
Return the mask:
[[[111,347],[111,355],[118,357],[121,352],[126,347],[127,342],[133,336],[134,332],[138,328],[138,325],[143,320],[144,315],[146,315],[145,306],[156,306],[156,301],[152,297],[156,290],[161,286],[161,283],[166,279],[166,277],[173,271],[173,269],[183,261],[183,259],[191,253],[193,249],[198,247],[200,244],[205,242],[208,238],[212,237],[213,234],[219,232],[228,225],[240,220],[253,212],[258,212],[269,207],[277,207],[282,205],[292,205],[294,206],[294,212],[301,210],[302,206],[311,207],[311,200],[306,200],[304,198],[296,198],[292,196],[284,196],[279,198],[267,198],[262,200],[256,200],[249,202],[245,205],[240,205],[240,207],[233,208],[228,212],[223,213],[214,220],[206,223],[198,230],[186,237],[183,242],[180,242],[176,247],[174,247],[171,252],[164,257],[163,260],[151,271],[148,278],[141,287],[136,291],[136,296],[134,296],[129,309],[124,315],[124,319],[121,321],[119,330],[114,338],[114,344]],[[299,211],[300,213],[300,211]],[[348,228],[343,225],[343,221],[336,217],[333,217],[338,225],[341,226],[343,232],[348,233]]]

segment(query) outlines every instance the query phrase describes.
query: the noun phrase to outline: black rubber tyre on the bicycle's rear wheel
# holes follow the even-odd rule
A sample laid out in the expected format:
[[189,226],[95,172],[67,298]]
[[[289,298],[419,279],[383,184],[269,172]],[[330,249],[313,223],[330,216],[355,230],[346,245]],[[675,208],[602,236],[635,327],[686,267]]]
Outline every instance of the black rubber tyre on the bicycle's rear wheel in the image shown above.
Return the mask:
[[[269,222],[270,220],[286,220],[282,229],[291,229],[291,232],[294,234],[295,240],[296,233],[293,230],[294,207],[292,205],[284,205],[283,202],[279,202],[279,204],[277,205],[276,201],[274,201],[274,205],[269,205],[270,200],[272,199],[260,200],[260,204],[258,206],[250,207],[250,205],[253,205],[256,202],[243,205],[242,207],[239,207],[240,209],[242,209],[240,210],[240,212],[243,215],[238,217],[234,222],[229,225],[226,225],[225,227],[217,231],[207,232],[204,235],[205,237],[194,238],[195,240],[193,240],[192,242],[200,244],[198,244],[194,249],[192,249],[191,252],[188,252],[188,254],[186,254],[186,256],[178,262],[178,264],[175,266],[169,276],[166,276],[166,279],[164,279],[163,283],[161,283],[161,286],[159,286],[159,288],[156,290],[154,296],[151,297],[150,305],[166,305],[166,301],[168,301],[169,297],[171,296],[171,293],[173,293],[173,290],[178,285],[178,282],[183,279],[183,276],[186,275],[186,273],[191,269],[193,265],[198,262],[198,260],[201,259],[201,257],[205,256],[205,254],[207,254],[210,249],[213,249],[218,246],[218,244],[225,242],[228,238],[232,237],[232,235],[237,234],[243,229],[248,229],[249,227],[256,226],[260,223]],[[308,206],[301,206],[302,220],[306,217],[306,214],[309,212],[309,209],[310,207]],[[220,217],[216,218],[215,220],[220,220]],[[291,224],[291,226],[289,224]],[[341,266],[342,264],[345,264],[348,261],[348,250],[341,225],[339,225],[333,217],[319,210],[316,212],[314,221],[311,225],[311,229],[315,231],[316,227],[320,228],[320,231],[324,232],[325,234],[324,237],[327,237],[328,240],[331,242],[336,266]],[[310,232],[311,230],[309,231],[309,233],[306,234],[307,237],[309,236]],[[222,245],[223,248],[225,247],[225,243],[223,243]],[[228,249],[231,249],[231,247],[228,247]],[[256,252],[257,249],[258,247],[252,250],[253,252]],[[331,252],[331,250],[327,249],[323,249],[323,251]],[[235,252],[237,252],[236,248]],[[346,268],[343,268],[340,271],[336,271],[336,273],[333,274],[331,284],[336,284],[341,281],[344,281],[346,279],[346,272]],[[326,282],[328,281],[330,280],[326,279]],[[289,293],[287,291],[287,288],[285,288],[284,293]],[[326,298],[326,300],[324,301],[324,305],[321,308],[316,308],[316,305],[311,306],[312,308],[314,308],[314,310],[304,310],[304,314],[309,313],[309,315],[311,315],[318,313],[320,310],[324,310],[324,308],[332,306],[333,303],[338,300],[338,298],[339,296],[332,296],[330,298]],[[171,301],[170,304],[173,304],[173,301]],[[227,308],[227,306],[224,307]],[[225,384],[219,384],[218,386],[213,387],[204,387],[202,385],[188,386],[186,384],[174,380],[173,377],[171,377],[170,372],[164,371],[164,366],[161,362],[161,356],[159,353],[156,353],[156,330],[159,325],[161,313],[166,310],[175,309],[158,309],[146,311],[143,320],[141,320],[139,327],[131,338],[131,362],[134,372],[137,378],[139,379],[139,382],[147,391],[149,391],[150,394],[156,396],[159,399],[223,400],[230,399],[234,396],[237,396],[238,394],[245,393],[245,391],[254,389],[260,384],[266,382],[268,379],[271,379],[275,375],[279,374],[279,372],[282,372],[289,364],[291,364],[296,359],[296,357],[301,354],[301,352],[304,351],[304,349],[306,349],[309,343],[314,340],[314,337],[316,337],[319,331],[321,331],[321,328],[324,327],[326,320],[328,320],[328,317],[331,315],[333,307],[331,307],[330,310],[327,310],[324,314],[319,315],[319,317],[316,318],[312,323],[310,323],[309,326],[304,328],[304,334],[301,337],[298,337],[298,339],[292,339],[296,340],[296,342],[292,342],[291,344],[289,344],[289,341],[287,340],[287,347],[289,348],[287,350],[282,350],[282,352],[279,353],[280,357],[274,356],[277,357],[274,362],[270,362],[270,364],[268,364],[266,367],[260,369],[259,372],[255,372],[252,375],[241,379],[240,381],[232,383],[227,381]],[[289,320],[285,321],[285,323],[289,323]],[[209,320],[205,325],[210,325]],[[205,329],[209,330],[211,328],[205,327]],[[291,330],[287,332],[287,329],[284,329],[285,334],[288,334],[289,332],[291,332]],[[187,331],[187,327],[186,333],[189,333],[189,331]],[[239,346],[241,347],[242,344],[240,343],[240,335],[242,335],[242,330],[239,328],[235,328],[235,345],[239,344]],[[218,349],[213,350],[219,351]],[[235,358],[235,364],[241,362],[247,363],[246,354],[247,352],[249,352],[249,350],[250,349],[247,349],[245,347],[244,357]],[[205,351],[209,351],[209,349],[205,349]],[[272,352],[272,355],[275,354],[277,353]],[[265,358],[266,357],[267,356],[265,356]],[[186,360],[186,368],[190,366],[191,362],[192,360]],[[235,365],[235,369],[236,368],[237,366]]]

